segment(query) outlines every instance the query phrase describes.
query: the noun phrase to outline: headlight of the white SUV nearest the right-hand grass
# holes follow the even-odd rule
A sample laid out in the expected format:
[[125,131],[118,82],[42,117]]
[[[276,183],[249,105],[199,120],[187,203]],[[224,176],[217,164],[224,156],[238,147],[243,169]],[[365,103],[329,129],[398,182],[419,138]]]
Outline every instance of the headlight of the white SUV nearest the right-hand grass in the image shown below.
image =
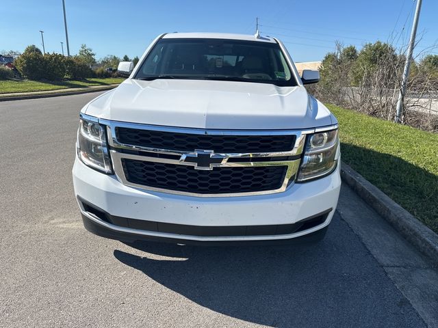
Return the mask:
[[303,182],[331,174],[337,164],[335,156],[338,145],[337,129],[309,135],[297,181]]

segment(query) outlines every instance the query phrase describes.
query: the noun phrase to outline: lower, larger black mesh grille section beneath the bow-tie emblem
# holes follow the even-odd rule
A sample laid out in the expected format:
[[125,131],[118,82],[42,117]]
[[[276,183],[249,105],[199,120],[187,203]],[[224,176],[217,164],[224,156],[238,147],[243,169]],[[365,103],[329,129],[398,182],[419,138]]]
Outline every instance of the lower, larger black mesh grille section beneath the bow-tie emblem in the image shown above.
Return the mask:
[[287,166],[215,167],[211,171],[188,165],[121,159],[127,181],[145,187],[188,193],[248,193],[281,188]]

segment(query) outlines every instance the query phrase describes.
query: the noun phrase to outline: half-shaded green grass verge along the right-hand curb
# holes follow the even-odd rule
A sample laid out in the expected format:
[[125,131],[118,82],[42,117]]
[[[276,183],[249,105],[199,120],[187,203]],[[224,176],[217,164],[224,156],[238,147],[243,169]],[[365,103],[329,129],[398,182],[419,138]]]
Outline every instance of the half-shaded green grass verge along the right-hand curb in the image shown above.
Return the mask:
[[438,233],[438,135],[328,107],[342,161]]

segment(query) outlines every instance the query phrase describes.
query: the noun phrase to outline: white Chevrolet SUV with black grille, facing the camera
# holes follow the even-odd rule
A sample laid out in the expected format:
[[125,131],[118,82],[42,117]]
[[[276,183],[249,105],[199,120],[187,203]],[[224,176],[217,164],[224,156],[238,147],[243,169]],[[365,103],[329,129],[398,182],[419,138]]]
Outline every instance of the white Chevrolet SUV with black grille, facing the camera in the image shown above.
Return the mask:
[[313,241],[335,212],[337,120],[275,38],[170,33],[81,109],[75,195],[123,241]]

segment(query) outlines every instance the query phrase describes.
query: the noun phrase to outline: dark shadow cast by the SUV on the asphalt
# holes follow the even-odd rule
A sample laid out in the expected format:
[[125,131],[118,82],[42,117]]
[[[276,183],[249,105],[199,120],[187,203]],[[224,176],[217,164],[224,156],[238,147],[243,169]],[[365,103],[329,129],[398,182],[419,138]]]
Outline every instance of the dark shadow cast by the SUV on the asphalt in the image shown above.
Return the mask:
[[326,238],[313,245],[129,246],[144,251],[144,256],[116,249],[114,256],[120,262],[205,308],[250,323],[272,327],[421,323],[337,213]]

